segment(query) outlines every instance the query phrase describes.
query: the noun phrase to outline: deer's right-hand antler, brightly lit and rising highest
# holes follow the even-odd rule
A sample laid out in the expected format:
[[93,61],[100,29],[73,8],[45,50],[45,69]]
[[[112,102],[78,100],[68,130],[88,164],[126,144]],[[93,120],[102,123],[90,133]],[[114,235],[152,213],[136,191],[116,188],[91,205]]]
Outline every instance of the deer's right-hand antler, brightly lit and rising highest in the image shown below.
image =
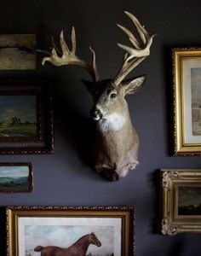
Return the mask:
[[141,23],[139,22],[139,20],[137,20],[135,15],[132,15],[127,11],[125,11],[124,13],[128,15],[129,18],[133,21],[135,28],[141,38],[141,42],[139,42],[135,38],[135,36],[132,34],[132,32],[129,31],[129,29],[118,24],[118,27],[120,27],[123,30],[123,32],[125,32],[128,35],[129,41],[133,44],[134,48],[131,48],[123,44],[118,44],[118,47],[125,50],[126,54],[123,57],[123,65],[119,70],[116,78],[113,81],[113,83],[116,85],[120,84],[123,81],[123,79],[137,65],[139,65],[141,61],[143,61],[146,58],[146,56],[150,54],[152,38],[156,35],[156,34],[153,34],[152,36],[150,36],[148,32],[146,32],[146,29],[144,28],[144,26],[141,26]]

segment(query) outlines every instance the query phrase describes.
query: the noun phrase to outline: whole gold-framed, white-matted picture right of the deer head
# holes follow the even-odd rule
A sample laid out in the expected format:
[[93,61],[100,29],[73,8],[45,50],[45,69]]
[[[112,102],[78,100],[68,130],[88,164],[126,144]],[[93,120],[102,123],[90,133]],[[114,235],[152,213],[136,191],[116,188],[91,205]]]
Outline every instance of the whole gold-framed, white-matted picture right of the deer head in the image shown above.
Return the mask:
[[201,48],[173,49],[175,155],[201,154]]

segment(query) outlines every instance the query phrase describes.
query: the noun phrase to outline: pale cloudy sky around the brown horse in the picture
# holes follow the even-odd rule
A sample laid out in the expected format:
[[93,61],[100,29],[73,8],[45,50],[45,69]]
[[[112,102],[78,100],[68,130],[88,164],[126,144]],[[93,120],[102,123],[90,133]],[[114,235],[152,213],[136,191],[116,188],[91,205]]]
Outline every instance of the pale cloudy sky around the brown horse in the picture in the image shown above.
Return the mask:
[[[89,245],[88,253],[113,253],[114,230],[111,226],[26,225],[26,250],[41,246],[69,247],[81,236],[95,232],[101,247]],[[35,255],[35,254],[34,254]],[[37,255],[37,254],[36,254]]]

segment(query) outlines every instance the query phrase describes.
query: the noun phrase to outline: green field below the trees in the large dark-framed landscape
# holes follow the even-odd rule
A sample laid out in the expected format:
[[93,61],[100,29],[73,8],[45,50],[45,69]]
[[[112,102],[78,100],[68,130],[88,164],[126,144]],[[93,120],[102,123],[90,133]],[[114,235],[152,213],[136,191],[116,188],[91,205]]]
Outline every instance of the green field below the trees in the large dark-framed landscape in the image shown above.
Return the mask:
[[0,123],[0,137],[36,137],[37,124],[20,123],[6,124]]

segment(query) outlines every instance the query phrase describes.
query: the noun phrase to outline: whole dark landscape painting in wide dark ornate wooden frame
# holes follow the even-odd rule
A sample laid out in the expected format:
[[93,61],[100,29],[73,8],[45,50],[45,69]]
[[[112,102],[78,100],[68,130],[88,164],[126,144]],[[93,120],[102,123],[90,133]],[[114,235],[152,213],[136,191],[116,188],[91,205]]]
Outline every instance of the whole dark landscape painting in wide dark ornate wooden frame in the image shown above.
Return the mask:
[[0,79],[0,154],[54,152],[51,84]]

